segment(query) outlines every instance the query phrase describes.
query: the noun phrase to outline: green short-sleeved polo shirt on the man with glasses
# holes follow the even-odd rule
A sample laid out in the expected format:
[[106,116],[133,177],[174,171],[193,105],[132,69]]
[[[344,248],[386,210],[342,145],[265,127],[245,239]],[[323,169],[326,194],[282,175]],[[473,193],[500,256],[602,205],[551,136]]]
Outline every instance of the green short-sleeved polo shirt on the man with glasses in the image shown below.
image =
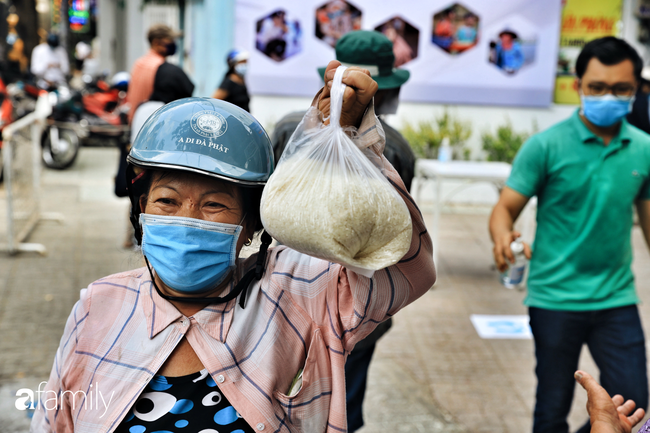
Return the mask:
[[632,215],[650,200],[650,135],[623,120],[605,146],[578,111],[532,136],[506,185],[537,196],[537,233],[524,303],[588,311],[638,302]]

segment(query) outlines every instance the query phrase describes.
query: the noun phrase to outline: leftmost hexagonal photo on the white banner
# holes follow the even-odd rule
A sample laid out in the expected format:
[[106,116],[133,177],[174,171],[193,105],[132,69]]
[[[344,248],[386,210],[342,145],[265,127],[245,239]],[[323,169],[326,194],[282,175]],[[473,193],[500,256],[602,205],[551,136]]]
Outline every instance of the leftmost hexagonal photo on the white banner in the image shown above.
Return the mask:
[[300,21],[291,17],[284,9],[271,12],[256,23],[255,46],[276,62],[300,53]]

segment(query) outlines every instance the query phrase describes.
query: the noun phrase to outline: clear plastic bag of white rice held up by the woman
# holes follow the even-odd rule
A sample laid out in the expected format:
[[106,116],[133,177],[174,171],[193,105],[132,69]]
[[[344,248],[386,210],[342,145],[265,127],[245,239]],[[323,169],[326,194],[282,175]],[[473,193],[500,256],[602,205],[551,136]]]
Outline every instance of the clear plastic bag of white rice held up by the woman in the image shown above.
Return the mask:
[[279,242],[357,273],[397,263],[411,244],[404,201],[339,124],[340,66],[331,91],[329,125],[311,107],[264,188],[262,223]]

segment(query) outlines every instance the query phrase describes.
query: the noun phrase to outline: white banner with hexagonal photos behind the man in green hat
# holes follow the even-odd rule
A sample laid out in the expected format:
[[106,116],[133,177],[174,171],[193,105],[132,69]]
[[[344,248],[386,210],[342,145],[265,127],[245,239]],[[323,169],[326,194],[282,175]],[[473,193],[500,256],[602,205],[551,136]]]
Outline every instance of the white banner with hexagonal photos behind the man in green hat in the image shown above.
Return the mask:
[[400,100],[545,107],[562,0],[238,0],[235,46],[252,94],[313,96],[345,33],[377,30],[411,73]]

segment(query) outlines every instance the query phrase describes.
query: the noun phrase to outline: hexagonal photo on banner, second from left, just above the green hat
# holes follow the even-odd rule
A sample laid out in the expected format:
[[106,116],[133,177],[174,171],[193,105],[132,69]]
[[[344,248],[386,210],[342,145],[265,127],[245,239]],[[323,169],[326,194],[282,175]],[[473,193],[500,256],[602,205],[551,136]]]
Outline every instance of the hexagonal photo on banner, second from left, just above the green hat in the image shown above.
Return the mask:
[[333,0],[316,9],[316,37],[336,46],[341,37],[361,29],[361,9],[345,0]]

